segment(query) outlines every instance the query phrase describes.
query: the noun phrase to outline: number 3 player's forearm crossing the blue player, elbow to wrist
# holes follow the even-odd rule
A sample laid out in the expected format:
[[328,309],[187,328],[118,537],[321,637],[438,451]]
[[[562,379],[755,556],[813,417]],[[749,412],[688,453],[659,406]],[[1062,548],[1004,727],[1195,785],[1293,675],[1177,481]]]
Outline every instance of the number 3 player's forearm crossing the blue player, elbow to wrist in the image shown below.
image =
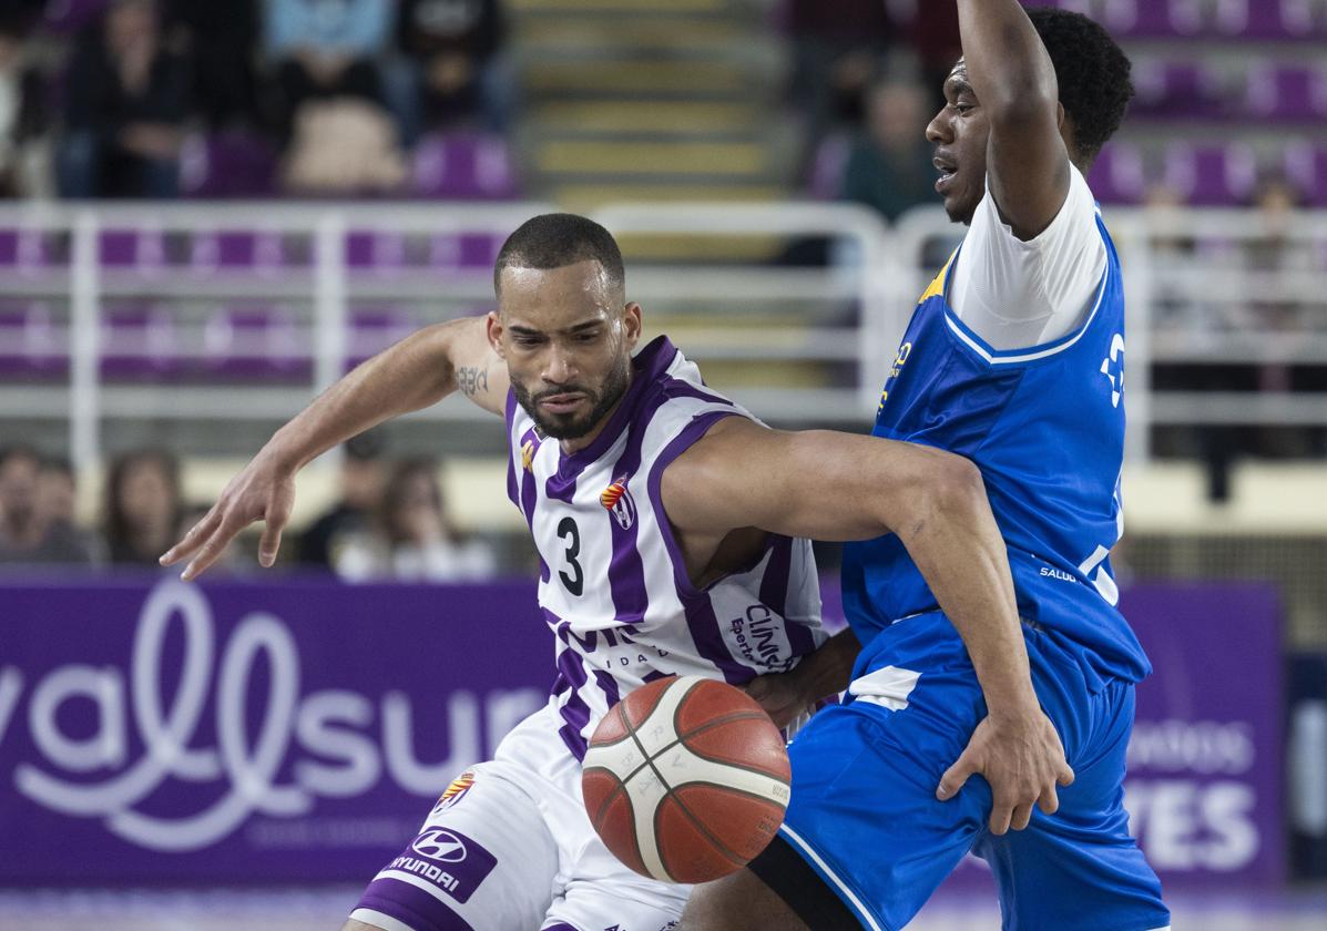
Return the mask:
[[958,630],[993,717],[1036,708],[1005,540],[981,485],[947,483],[898,537]]

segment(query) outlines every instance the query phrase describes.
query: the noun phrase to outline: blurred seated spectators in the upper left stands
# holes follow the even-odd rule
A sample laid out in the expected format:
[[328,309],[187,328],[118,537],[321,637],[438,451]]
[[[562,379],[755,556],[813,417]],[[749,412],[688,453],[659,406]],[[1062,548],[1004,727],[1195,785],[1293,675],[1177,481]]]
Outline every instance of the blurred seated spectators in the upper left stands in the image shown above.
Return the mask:
[[171,198],[191,134],[391,191],[425,134],[506,129],[503,34],[499,0],[3,0],[0,192]]

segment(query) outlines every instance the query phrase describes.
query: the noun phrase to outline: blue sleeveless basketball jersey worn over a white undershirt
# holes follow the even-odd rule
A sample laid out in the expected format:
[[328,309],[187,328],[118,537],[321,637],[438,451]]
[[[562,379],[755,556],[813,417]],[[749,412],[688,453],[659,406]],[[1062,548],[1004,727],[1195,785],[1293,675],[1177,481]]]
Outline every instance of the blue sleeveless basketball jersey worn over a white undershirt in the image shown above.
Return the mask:
[[[1124,289],[1097,216],[1107,271],[1096,304],[1050,343],[995,350],[954,313],[947,284],[962,247],[922,294],[894,357],[876,436],[971,459],[1009,546],[1019,614],[1097,680],[1151,666],[1116,610],[1109,550],[1124,530]],[[937,602],[898,537],[844,550],[844,609],[869,643]]]

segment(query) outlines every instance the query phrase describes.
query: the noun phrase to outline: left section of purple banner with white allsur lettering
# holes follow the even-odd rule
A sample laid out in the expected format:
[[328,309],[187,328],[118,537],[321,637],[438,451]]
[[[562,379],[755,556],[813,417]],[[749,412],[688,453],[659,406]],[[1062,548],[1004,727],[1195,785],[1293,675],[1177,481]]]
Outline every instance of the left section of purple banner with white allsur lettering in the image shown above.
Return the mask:
[[0,590],[0,882],[368,879],[541,706],[533,584]]

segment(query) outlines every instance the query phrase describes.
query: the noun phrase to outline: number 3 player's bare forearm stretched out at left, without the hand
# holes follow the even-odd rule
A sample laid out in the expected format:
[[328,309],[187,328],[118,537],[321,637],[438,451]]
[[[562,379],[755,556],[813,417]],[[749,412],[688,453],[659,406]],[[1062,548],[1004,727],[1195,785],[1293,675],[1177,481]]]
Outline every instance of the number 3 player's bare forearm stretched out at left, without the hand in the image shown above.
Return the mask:
[[460,322],[419,330],[357,366],[277,430],[263,452],[296,472],[369,427],[437,403],[456,387],[447,350]]

